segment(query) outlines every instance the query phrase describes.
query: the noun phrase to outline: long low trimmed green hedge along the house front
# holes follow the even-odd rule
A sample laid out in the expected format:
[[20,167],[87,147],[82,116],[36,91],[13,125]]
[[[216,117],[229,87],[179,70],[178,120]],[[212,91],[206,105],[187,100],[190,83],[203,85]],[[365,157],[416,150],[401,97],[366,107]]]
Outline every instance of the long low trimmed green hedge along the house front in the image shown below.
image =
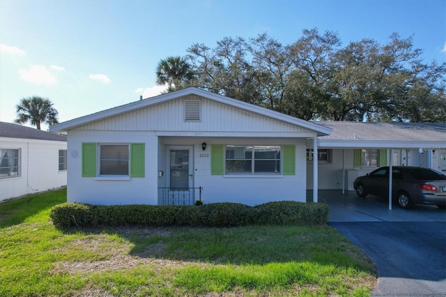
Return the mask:
[[191,226],[238,227],[252,224],[321,225],[328,220],[328,205],[275,201],[259,206],[214,203],[202,206],[59,204],[49,217],[54,226]]

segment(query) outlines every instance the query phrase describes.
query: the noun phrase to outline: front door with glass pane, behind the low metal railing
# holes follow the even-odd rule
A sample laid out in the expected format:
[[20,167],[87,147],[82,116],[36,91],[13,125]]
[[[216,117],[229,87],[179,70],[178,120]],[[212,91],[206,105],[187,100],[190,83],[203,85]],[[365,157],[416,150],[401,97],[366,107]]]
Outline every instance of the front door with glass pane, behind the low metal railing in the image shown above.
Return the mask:
[[167,201],[164,204],[194,204],[194,147],[167,146],[166,188]]

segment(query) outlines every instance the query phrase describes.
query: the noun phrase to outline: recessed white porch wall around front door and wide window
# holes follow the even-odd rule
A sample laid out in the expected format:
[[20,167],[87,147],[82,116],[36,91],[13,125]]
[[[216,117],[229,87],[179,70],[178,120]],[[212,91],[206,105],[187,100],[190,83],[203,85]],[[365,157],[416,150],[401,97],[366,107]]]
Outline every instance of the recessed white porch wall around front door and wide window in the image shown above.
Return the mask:
[[[206,151],[201,143],[206,142]],[[211,175],[210,173],[210,146],[212,144],[254,144],[254,145],[283,145],[294,144],[295,175]],[[266,203],[268,201],[306,201],[305,190],[305,139],[298,138],[229,138],[229,137],[160,137],[158,170],[165,171],[165,147],[174,145],[194,146],[194,187],[202,187],[201,198],[204,203],[230,201],[248,205]],[[201,158],[200,154],[209,153],[208,157]],[[158,178],[158,186],[166,187],[165,176]],[[161,204],[161,201],[158,201]]]

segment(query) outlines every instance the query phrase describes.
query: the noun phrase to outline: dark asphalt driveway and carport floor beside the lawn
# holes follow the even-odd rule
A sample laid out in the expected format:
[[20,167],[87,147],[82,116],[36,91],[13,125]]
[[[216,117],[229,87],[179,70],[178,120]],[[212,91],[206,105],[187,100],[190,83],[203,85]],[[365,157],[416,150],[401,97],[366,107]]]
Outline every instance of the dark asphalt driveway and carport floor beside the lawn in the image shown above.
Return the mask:
[[424,205],[390,211],[387,199],[351,191],[318,196],[330,206],[328,224],[375,264],[373,296],[446,296],[446,211]]

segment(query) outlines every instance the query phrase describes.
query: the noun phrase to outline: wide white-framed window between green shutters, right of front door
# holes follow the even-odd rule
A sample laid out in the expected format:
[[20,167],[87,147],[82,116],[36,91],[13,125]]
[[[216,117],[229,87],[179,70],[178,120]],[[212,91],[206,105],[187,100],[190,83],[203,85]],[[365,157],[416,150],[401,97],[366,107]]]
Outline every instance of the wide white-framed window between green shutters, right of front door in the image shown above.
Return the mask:
[[225,174],[281,174],[282,146],[226,145]]

